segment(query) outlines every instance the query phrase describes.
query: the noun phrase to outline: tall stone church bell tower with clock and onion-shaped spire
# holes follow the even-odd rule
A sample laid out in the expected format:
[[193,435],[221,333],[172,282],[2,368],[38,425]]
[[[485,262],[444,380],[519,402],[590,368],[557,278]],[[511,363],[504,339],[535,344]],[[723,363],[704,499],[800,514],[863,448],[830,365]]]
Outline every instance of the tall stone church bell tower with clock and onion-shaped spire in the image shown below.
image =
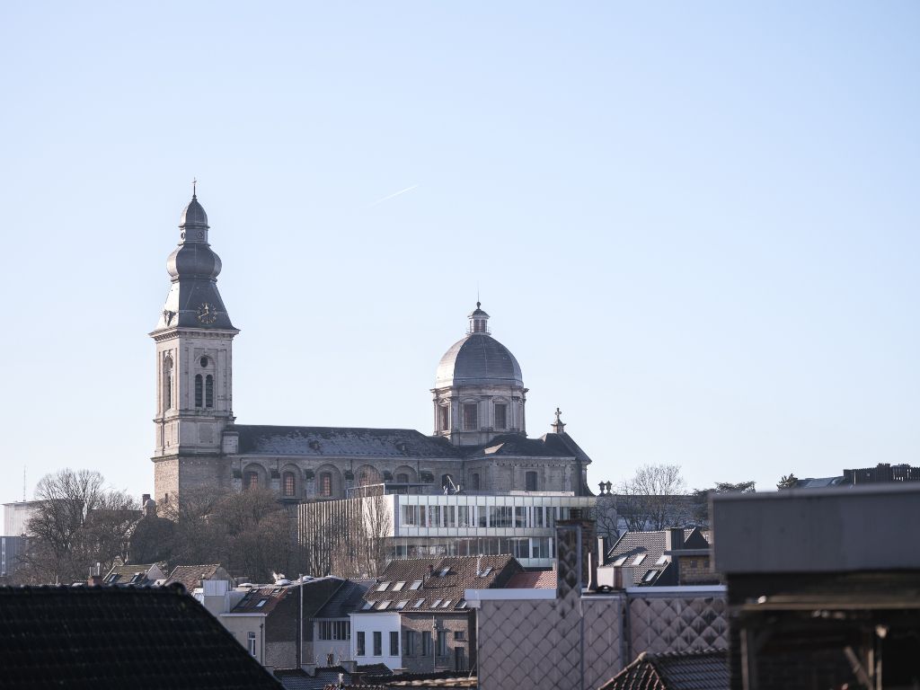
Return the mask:
[[167,259],[166,305],[150,333],[156,343],[155,500],[191,486],[219,487],[224,429],[232,424],[234,336],[208,244],[208,216],[192,190]]

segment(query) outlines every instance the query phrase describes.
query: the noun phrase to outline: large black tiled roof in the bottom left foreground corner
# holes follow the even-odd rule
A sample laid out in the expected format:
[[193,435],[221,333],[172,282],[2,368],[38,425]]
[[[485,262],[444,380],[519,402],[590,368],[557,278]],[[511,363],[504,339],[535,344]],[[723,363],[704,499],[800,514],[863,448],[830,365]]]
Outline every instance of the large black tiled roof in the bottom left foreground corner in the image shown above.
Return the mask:
[[3,686],[279,685],[178,587],[0,587]]

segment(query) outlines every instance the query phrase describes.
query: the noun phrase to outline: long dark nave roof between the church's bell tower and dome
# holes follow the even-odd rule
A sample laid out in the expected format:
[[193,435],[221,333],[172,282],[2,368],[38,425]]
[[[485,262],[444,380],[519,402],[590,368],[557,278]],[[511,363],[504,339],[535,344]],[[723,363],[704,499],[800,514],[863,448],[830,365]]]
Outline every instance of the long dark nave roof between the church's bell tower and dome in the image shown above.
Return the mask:
[[440,437],[414,429],[273,427],[237,424],[240,454],[323,457],[456,458],[460,451]]

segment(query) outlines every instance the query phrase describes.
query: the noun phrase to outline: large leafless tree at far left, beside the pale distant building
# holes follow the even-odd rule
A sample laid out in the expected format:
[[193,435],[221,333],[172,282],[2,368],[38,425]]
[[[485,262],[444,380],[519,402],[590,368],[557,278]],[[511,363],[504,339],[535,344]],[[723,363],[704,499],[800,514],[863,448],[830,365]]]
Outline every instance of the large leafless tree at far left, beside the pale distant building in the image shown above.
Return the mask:
[[82,580],[97,563],[108,570],[127,558],[132,525],[140,517],[137,503],[125,491],[106,488],[98,472],[46,475],[35,496],[39,504],[26,525],[29,546],[21,557],[28,581]]

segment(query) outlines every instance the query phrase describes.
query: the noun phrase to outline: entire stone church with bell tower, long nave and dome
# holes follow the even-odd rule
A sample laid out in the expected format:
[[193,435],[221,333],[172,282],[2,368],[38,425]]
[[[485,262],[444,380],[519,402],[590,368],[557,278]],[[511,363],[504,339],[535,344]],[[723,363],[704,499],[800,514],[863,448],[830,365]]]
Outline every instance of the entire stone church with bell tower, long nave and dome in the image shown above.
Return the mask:
[[239,330],[217,290],[221,260],[209,230],[193,194],[181,215],[178,247],[167,259],[166,305],[150,334],[156,346],[155,500],[256,486],[284,501],[330,500],[381,482],[431,492],[591,495],[591,458],[564,431],[558,411],[553,431],[526,436],[521,367],[491,337],[489,315],[478,303],[466,336],[438,364],[431,435],[237,424],[232,355]]

